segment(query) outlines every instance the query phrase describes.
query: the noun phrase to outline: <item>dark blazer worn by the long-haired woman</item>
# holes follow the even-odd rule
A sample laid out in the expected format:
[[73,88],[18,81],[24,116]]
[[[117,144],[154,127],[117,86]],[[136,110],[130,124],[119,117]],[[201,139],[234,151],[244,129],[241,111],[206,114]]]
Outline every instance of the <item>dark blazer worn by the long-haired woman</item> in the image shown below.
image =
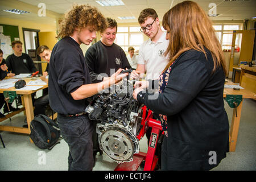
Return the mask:
[[[140,92],[138,101],[167,115],[170,170],[209,170],[229,150],[229,123],[224,109],[225,73],[213,70],[210,52],[189,50],[175,61],[168,84],[156,100]],[[214,155],[216,154],[216,162]],[[216,163],[216,164],[214,164]]]

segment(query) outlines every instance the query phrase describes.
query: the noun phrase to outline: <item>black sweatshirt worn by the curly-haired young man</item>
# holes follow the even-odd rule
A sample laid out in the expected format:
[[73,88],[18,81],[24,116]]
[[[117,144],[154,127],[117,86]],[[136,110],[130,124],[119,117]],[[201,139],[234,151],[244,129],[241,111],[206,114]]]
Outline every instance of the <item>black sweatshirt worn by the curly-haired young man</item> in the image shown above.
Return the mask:
[[86,99],[73,100],[71,93],[91,82],[80,45],[69,36],[57,42],[49,63],[48,92],[51,108],[63,115],[85,111]]

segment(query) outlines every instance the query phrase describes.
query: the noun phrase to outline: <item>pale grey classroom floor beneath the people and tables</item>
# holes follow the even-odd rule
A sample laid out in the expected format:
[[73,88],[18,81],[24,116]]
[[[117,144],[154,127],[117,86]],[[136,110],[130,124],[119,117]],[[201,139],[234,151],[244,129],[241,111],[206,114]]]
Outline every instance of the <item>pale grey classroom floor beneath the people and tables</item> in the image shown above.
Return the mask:
[[[225,102],[225,109],[229,121],[232,119],[233,109]],[[22,127],[24,125],[23,113],[6,119],[0,125]],[[51,151],[40,150],[30,142],[28,135],[0,131],[6,148],[0,143],[0,171],[48,171],[68,170],[68,145],[62,139]],[[140,142],[142,152],[147,151],[147,139]],[[240,130],[238,133],[236,152],[229,152],[227,157],[212,170],[255,170],[256,169],[256,101],[245,99],[243,101]],[[113,171],[117,163],[106,156],[97,155],[94,171]]]

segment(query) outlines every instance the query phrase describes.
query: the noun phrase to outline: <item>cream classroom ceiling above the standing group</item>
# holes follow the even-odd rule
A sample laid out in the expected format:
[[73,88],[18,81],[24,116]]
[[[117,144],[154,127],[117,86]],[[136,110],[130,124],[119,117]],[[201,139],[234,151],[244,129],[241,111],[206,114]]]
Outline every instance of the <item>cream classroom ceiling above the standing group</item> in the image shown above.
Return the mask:
[[[51,10],[53,12],[63,14],[67,12],[69,9],[72,8],[72,3],[76,2],[79,5],[80,4],[89,4],[94,7],[97,7],[98,10],[101,11],[102,14],[105,16],[110,16],[112,18],[115,18],[119,23],[125,23],[125,22],[137,22],[137,18],[139,16],[139,13],[143,9],[146,9],[148,7],[154,8],[156,12],[159,15],[159,18],[162,19],[162,16],[168,9],[170,8],[170,5],[172,3],[172,6],[175,6],[177,3],[183,2],[184,0],[122,0],[125,5],[124,6],[112,6],[112,7],[102,7],[98,5],[98,3],[94,0],[18,0],[19,2],[28,3],[30,5],[35,6],[38,8],[38,4],[40,2],[46,3],[46,9]],[[217,13],[222,14],[219,17],[211,18],[214,20],[232,20],[232,19],[250,19],[251,17],[255,16],[256,12],[256,1],[250,0],[245,2],[225,2],[223,0],[193,0],[204,9],[205,13],[208,13],[209,3],[216,3],[217,5]],[[3,0],[0,0],[0,10],[2,10],[4,7],[2,7],[1,2]],[[6,4],[7,1],[5,1]],[[11,7],[7,7],[11,8]],[[23,16],[24,19],[36,19],[32,18],[31,16],[34,16],[33,14],[30,14],[28,16]],[[36,15],[35,15],[36,16]],[[135,16],[135,20],[120,20],[118,19],[118,16]],[[3,11],[0,11],[0,18],[1,17],[8,17],[8,18],[19,18],[21,16],[15,16],[11,13],[3,13]]]

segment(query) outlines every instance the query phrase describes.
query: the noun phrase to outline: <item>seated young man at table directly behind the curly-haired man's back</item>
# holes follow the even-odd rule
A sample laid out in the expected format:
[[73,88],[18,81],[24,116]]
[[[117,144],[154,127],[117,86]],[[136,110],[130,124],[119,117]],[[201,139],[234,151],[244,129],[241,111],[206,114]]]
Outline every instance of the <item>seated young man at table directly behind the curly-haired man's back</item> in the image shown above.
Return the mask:
[[[39,46],[36,53],[43,59],[48,62],[47,68],[49,65],[49,60],[51,57],[52,51],[47,46]],[[46,71],[43,73],[43,76],[41,76],[41,80],[46,82],[48,84],[48,78],[46,76],[48,75],[48,69],[46,68]],[[46,115],[46,107],[49,105],[49,96],[48,94],[44,95],[40,98],[38,98],[35,101],[35,109],[34,109],[34,115],[38,114],[44,114]]]

